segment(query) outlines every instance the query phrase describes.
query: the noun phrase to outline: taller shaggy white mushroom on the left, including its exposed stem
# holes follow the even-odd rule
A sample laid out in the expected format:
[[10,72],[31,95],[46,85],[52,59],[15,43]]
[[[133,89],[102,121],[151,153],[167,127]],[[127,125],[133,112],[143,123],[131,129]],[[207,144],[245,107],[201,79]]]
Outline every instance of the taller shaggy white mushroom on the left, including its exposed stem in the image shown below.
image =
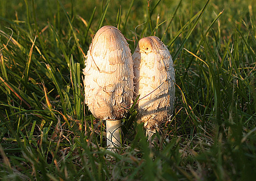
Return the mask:
[[[133,59],[123,34],[114,26],[103,26],[90,44],[85,69],[85,104],[95,118],[106,120],[107,145],[121,146],[119,111],[133,99]],[[111,149],[113,151],[113,149]]]

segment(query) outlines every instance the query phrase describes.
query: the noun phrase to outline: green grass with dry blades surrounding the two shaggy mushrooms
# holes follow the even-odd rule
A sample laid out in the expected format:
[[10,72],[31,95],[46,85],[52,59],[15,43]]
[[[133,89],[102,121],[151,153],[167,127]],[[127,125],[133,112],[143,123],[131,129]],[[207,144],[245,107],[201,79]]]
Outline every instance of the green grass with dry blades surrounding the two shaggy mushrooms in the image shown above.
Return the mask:
[[[253,180],[255,11],[254,0],[1,0],[0,179]],[[83,104],[84,56],[104,25],[132,53],[158,35],[173,56],[175,110],[154,148],[130,110],[109,153]]]

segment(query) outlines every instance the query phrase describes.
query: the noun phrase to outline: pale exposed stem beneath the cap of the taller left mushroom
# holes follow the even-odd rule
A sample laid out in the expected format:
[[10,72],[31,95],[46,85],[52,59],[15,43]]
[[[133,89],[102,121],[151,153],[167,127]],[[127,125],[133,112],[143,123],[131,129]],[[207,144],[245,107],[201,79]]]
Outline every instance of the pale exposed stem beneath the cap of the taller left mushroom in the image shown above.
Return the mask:
[[121,146],[121,120],[107,120],[107,146],[114,151],[115,147]]

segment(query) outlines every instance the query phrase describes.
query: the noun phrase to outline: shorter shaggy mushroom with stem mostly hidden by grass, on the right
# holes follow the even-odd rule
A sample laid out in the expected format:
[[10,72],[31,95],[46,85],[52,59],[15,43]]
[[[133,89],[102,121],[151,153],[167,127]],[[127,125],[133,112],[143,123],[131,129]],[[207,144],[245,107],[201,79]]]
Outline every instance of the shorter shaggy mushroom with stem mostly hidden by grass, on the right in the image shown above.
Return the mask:
[[137,102],[137,118],[144,123],[146,135],[151,140],[161,123],[168,121],[173,112],[173,60],[164,43],[158,37],[151,36],[140,39],[133,53],[133,62],[135,93],[142,97]]

